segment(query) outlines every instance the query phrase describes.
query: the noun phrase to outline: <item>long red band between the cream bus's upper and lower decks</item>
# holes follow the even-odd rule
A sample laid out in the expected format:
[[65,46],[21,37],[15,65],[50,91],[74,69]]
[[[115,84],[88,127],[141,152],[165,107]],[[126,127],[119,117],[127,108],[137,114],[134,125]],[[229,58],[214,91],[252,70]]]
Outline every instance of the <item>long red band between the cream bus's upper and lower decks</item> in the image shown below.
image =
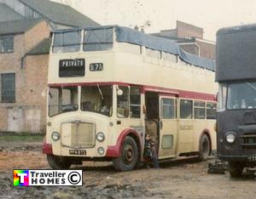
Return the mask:
[[180,90],[174,88],[161,88],[161,87],[154,87],[150,85],[138,85],[132,84],[127,82],[73,82],[73,83],[49,83],[49,87],[65,87],[65,86],[83,86],[83,85],[113,85],[117,84],[119,86],[138,86],[142,87],[142,93],[145,94],[146,92],[157,92],[160,94],[172,94],[179,98],[186,98],[186,99],[203,99],[208,101],[216,101],[215,94],[204,94],[194,91],[187,91],[187,90]]

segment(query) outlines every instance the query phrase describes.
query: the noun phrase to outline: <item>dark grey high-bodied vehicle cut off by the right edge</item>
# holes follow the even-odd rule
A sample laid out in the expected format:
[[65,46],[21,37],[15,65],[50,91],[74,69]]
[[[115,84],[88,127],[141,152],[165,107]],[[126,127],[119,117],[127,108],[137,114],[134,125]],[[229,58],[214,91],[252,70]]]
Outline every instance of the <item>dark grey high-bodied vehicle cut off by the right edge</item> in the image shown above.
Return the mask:
[[218,158],[230,163],[230,175],[256,165],[256,25],[217,33],[216,81]]

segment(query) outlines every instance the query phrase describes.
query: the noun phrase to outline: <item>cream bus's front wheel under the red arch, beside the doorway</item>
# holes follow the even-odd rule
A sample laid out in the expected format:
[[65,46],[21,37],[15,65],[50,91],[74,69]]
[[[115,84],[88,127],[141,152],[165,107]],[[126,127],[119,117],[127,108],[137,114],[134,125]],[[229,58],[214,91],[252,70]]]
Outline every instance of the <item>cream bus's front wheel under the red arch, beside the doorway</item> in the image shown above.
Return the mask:
[[113,159],[113,167],[118,171],[131,171],[137,166],[137,162],[137,143],[130,136],[127,136],[122,145],[121,156]]

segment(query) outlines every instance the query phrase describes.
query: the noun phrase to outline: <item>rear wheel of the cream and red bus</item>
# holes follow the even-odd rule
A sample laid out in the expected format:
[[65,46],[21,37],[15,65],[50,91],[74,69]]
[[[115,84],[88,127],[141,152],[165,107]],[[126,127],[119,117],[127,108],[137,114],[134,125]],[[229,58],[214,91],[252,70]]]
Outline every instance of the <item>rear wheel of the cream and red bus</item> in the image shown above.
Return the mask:
[[208,136],[203,134],[199,143],[199,159],[201,161],[207,161],[211,151],[211,144]]

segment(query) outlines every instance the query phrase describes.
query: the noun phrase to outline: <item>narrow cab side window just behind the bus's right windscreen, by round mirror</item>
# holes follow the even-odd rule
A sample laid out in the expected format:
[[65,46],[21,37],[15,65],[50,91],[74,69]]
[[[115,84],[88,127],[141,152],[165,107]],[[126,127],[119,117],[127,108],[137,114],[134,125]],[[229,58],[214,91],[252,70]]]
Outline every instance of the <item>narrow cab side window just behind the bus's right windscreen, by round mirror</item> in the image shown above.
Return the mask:
[[120,118],[129,117],[129,89],[128,87],[119,86],[123,94],[117,95],[117,116]]

